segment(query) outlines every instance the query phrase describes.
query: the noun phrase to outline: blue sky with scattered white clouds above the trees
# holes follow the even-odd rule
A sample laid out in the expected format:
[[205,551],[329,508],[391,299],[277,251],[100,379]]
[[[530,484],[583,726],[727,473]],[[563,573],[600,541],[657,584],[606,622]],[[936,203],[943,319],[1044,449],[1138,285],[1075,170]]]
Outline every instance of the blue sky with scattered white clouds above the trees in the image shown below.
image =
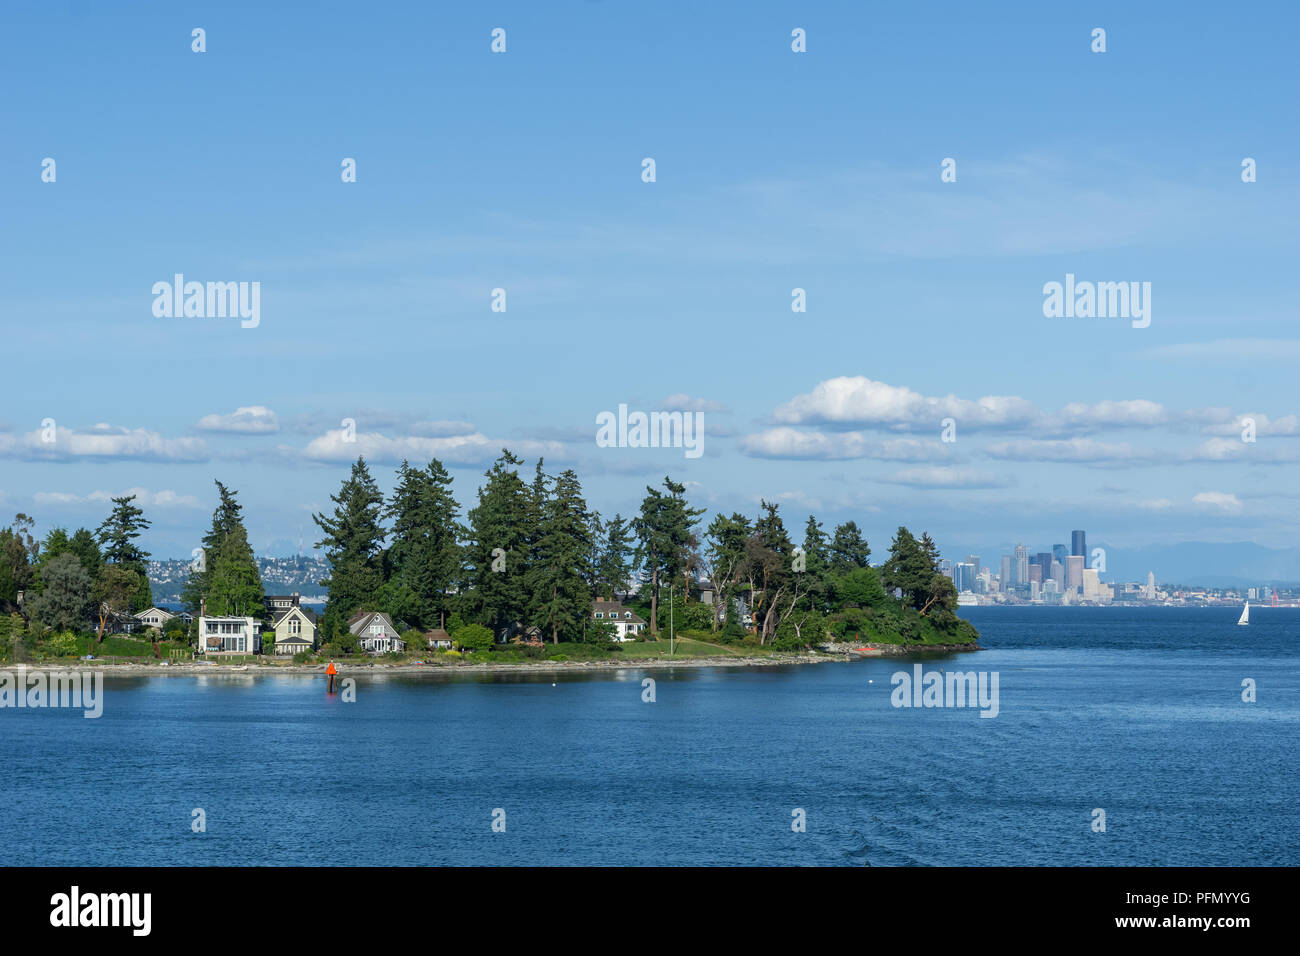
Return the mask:
[[[359,451],[469,502],[504,445],[604,514],[671,473],[878,551],[1294,542],[1292,5],[268,7],[6,5],[0,512],[140,489],[187,557],[217,477],[278,551]],[[260,324],[156,317],[177,272]],[[1150,326],[1044,317],[1066,273]],[[597,447],[620,402],[703,457]]]

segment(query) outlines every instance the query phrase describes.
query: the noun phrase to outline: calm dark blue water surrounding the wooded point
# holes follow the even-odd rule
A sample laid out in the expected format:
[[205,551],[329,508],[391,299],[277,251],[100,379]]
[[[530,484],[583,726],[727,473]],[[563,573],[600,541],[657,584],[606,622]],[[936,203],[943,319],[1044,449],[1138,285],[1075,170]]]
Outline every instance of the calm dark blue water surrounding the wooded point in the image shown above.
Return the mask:
[[1300,862],[1300,610],[963,610],[988,649],[926,667],[997,671],[994,719],[892,708],[897,659],[0,710],[0,864]]

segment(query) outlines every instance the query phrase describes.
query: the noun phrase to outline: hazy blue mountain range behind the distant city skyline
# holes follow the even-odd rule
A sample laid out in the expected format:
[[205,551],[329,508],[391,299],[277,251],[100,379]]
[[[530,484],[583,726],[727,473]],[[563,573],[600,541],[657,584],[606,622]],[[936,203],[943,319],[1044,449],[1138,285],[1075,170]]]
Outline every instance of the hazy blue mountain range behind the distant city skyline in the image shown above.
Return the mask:
[[[1048,550],[1028,542],[1026,546],[1030,557],[1039,550]],[[1093,548],[1106,551],[1106,571],[1101,578],[1109,581],[1145,584],[1147,572],[1152,571],[1157,584],[1204,588],[1256,588],[1264,584],[1300,587],[1300,548],[1264,548],[1248,541],[1182,541],[1147,548],[1118,548],[1089,538],[1088,550]],[[971,553],[979,554],[982,566],[997,574],[1002,554],[1009,554],[1010,550],[976,549]]]

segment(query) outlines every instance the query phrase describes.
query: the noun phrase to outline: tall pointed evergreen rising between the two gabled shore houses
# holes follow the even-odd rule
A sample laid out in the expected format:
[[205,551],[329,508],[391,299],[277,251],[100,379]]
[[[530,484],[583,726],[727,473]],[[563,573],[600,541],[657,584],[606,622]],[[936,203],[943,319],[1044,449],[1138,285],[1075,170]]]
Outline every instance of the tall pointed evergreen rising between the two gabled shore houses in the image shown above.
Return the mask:
[[354,611],[376,604],[384,587],[384,527],[380,523],[384,496],[364,458],[356,459],[352,473],[330,501],[335,505],[334,514],[316,514],[312,520],[321,529],[316,546],[326,549],[330,563],[329,578],[321,581],[329,588],[326,610],[346,622]]

